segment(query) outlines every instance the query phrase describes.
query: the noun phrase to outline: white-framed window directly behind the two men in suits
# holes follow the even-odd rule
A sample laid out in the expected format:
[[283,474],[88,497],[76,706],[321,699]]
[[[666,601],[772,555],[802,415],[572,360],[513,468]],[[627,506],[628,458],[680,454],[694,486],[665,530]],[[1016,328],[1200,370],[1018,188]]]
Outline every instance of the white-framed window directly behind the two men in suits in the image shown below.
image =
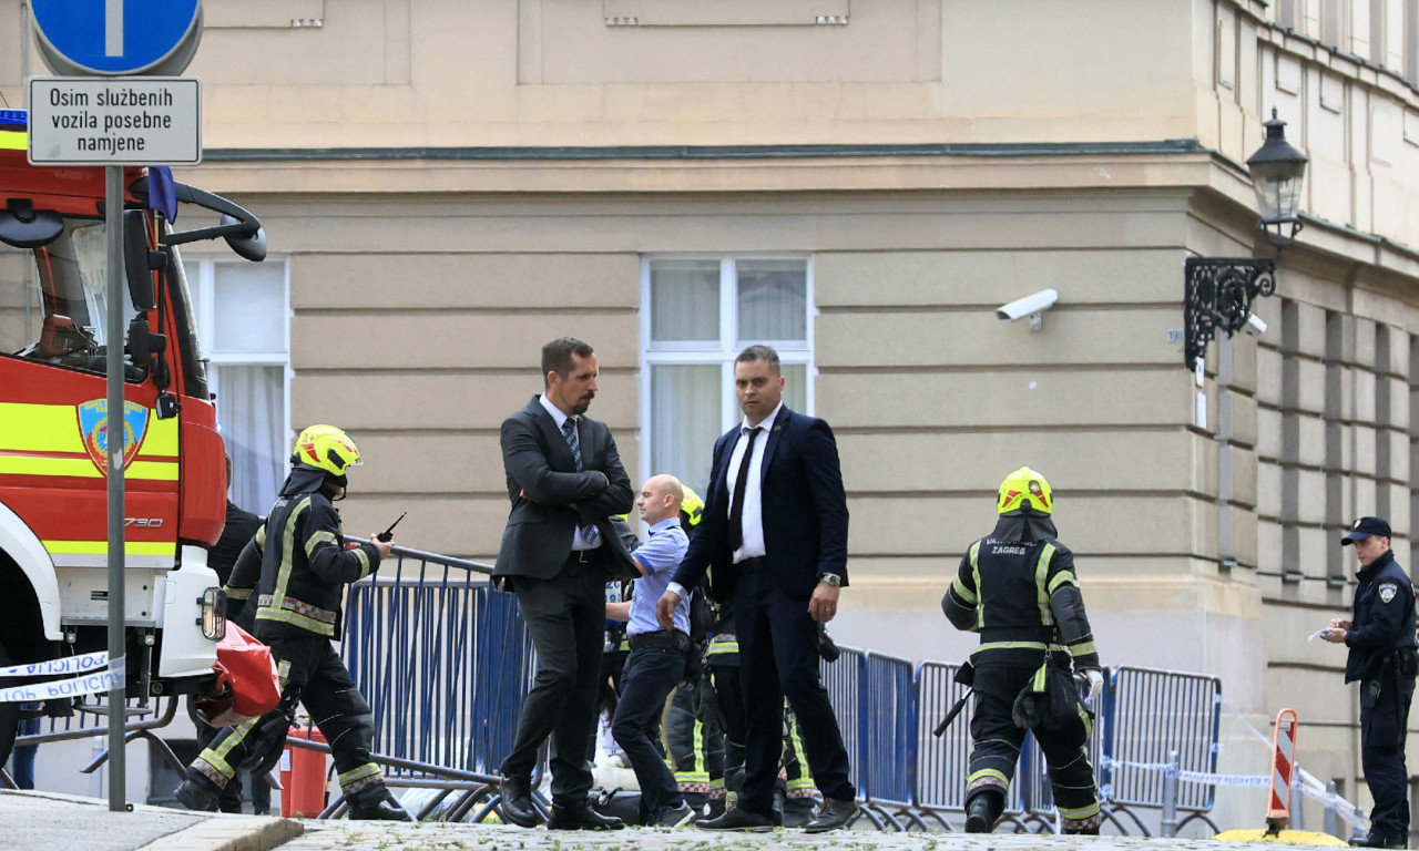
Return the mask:
[[812,264],[806,257],[648,257],[641,261],[641,469],[704,494],[714,441],[744,414],[734,359],[768,343],[783,403],[813,410]]

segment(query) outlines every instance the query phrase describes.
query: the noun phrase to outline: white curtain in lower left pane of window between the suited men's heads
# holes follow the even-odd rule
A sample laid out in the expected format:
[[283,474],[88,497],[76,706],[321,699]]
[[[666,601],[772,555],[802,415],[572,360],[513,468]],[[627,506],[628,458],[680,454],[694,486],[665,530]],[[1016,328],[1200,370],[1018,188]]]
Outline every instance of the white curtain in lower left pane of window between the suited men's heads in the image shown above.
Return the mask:
[[717,365],[650,367],[647,478],[668,472],[705,496],[714,441],[722,431],[722,374]]

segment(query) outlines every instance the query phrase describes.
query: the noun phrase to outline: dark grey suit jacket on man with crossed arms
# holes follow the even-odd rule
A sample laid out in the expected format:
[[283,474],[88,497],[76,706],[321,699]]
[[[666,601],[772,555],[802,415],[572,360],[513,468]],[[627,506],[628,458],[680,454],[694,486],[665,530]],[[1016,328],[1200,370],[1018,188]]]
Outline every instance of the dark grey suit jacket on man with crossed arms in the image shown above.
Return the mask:
[[640,576],[607,521],[609,515],[627,513],[634,504],[612,431],[606,423],[582,416],[576,434],[582,444],[582,472],[576,471],[572,448],[539,397],[534,396],[526,407],[502,421],[502,467],[512,511],[494,577],[552,579],[572,552],[575,529],[589,523],[602,532],[610,556],[607,572],[622,579]]

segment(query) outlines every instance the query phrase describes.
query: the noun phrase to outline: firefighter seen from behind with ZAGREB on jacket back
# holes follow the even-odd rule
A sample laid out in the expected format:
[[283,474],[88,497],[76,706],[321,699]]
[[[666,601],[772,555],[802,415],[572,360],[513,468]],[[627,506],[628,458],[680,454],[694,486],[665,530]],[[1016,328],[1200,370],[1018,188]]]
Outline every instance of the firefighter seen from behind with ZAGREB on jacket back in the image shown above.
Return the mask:
[[[971,654],[975,706],[966,776],[966,831],[989,833],[1005,810],[1020,757],[1025,728],[1050,667],[1063,667],[1088,684],[1090,705],[1103,688],[1098,651],[1074,574],[1074,555],[1056,540],[1054,496],[1039,472],[1022,467],[1000,482],[995,530],[966,550],[951,590],[941,600],[958,630],[981,634]],[[1064,679],[1069,711],[1033,728],[1049,764],[1054,803],[1067,834],[1097,834],[1100,824],[1094,767],[1088,762],[1091,713],[1078,705],[1073,679]],[[1060,695],[1063,696],[1063,695]],[[1059,703],[1054,703],[1059,705]]]

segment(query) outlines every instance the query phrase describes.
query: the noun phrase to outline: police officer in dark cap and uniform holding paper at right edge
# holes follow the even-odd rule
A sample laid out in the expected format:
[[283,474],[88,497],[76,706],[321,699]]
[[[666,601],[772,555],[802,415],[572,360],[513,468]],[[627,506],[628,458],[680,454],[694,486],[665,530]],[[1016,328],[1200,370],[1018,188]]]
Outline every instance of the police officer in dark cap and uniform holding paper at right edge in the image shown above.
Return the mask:
[[1359,583],[1349,620],[1332,618],[1321,638],[1349,648],[1345,682],[1359,682],[1359,760],[1375,799],[1369,835],[1351,842],[1403,848],[1409,840],[1405,732],[1415,695],[1415,590],[1389,549],[1389,523],[1359,518],[1341,539],[1355,546]]

